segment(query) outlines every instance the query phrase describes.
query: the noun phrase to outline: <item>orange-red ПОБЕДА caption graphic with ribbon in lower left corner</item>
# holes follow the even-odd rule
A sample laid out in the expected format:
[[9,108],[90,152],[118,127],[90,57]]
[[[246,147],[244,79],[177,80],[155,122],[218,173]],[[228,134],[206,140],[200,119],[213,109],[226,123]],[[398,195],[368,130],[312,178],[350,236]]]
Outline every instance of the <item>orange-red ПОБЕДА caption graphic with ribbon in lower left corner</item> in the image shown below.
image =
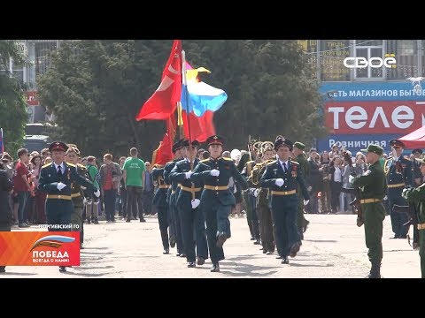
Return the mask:
[[79,266],[78,231],[0,231],[4,266]]

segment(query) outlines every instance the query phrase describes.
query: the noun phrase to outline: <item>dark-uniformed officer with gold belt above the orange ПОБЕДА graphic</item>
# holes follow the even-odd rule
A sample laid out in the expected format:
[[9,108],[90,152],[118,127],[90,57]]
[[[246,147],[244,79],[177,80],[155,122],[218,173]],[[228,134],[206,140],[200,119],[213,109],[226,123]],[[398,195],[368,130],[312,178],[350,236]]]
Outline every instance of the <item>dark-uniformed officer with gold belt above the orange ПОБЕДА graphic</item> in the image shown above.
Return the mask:
[[[73,183],[85,186],[97,198],[100,196],[100,191],[97,187],[86,178],[82,178],[74,164],[64,162],[67,149],[68,146],[62,141],[55,141],[50,144],[49,150],[53,163],[42,166],[38,180],[38,190],[47,193],[47,223],[53,225],[49,227],[49,231],[67,231],[66,226],[61,228],[60,225],[72,226],[73,201],[71,186]],[[66,267],[60,266],[59,271],[66,272]]]

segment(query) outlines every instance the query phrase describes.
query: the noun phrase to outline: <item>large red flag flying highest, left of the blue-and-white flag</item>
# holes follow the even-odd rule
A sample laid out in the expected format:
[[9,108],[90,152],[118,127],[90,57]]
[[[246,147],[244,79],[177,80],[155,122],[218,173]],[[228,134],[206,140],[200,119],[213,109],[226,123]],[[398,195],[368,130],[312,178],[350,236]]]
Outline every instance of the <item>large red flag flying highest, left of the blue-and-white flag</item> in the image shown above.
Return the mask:
[[135,117],[136,120],[166,120],[174,114],[182,95],[182,41],[174,40],[170,57],[162,73],[159,87],[145,102]]

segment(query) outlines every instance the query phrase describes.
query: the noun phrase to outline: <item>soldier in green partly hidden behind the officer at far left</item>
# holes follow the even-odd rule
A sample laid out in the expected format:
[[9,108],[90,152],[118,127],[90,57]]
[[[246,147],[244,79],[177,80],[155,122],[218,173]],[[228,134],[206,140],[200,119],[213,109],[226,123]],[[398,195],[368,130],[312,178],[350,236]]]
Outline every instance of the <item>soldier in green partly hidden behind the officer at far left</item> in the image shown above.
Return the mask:
[[[86,167],[78,163],[80,150],[76,147],[69,147],[66,150],[66,163],[75,165],[77,172],[82,178],[87,178]],[[82,210],[84,209],[84,193],[81,186],[75,182],[71,184],[71,197],[73,201],[73,214],[71,215],[71,222],[73,223],[73,231],[80,231],[80,248],[84,248],[84,228],[82,222]]]

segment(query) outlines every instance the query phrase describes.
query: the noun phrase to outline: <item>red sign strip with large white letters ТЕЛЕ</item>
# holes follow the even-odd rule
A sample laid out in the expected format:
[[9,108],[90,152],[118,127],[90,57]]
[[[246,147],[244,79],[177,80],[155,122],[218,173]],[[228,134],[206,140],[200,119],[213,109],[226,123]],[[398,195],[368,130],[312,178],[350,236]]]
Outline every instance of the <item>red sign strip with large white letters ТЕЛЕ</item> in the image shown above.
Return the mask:
[[325,112],[333,134],[406,134],[425,125],[425,102],[326,102]]

